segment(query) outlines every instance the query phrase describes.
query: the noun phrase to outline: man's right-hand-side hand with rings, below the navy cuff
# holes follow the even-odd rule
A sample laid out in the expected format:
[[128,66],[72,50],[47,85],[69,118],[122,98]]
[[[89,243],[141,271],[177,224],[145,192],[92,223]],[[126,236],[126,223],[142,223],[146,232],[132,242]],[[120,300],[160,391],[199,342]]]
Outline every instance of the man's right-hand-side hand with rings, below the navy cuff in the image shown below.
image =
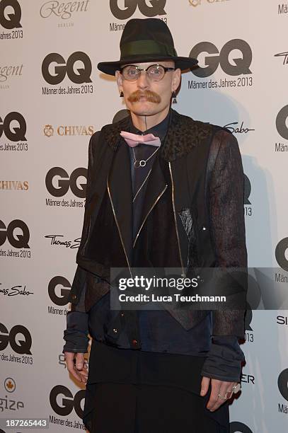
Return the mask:
[[[219,381],[218,379],[210,379],[209,377],[203,376],[200,396],[206,396],[210,381],[211,393],[206,407],[211,412],[214,412],[214,410],[217,410],[223,403],[225,403],[226,400],[233,396],[234,393],[232,386],[236,386],[237,382]],[[219,394],[222,397],[226,396],[226,398],[219,397]]]

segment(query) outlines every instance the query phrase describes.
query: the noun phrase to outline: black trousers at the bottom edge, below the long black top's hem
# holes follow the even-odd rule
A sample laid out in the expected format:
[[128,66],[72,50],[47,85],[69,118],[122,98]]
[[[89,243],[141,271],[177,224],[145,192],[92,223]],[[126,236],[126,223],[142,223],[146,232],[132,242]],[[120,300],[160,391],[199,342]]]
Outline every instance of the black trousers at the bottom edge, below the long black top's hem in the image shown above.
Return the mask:
[[228,432],[209,416],[205,408],[208,395],[201,397],[170,386],[131,383],[94,386],[90,433]]

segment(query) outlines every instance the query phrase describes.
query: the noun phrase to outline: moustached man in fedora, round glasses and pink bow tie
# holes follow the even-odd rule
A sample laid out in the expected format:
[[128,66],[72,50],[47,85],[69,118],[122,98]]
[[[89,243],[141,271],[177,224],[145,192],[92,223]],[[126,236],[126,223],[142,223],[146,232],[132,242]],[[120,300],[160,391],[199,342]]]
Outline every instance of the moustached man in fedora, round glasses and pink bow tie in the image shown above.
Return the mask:
[[226,129],[171,109],[181,71],[197,60],[178,57],[163,21],[128,21],[120,50],[120,61],[98,69],[116,76],[130,115],[89,144],[63,352],[72,376],[88,377],[83,422],[91,433],[228,433],[244,312],[113,310],[110,269],[178,267],[184,276],[200,267],[245,269],[238,143]]

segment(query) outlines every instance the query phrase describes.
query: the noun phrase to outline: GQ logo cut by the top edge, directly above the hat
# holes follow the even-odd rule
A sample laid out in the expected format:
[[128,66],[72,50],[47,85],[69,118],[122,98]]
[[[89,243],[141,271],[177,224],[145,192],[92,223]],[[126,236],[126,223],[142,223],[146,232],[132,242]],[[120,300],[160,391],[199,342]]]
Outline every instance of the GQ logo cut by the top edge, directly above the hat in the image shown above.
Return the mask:
[[119,20],[127,20],[128,18],[131,18],[137,9],[137,6],[139,11],[149,18],[157,15],[166,15],[166,11],[164,11],[166,0],[149,0],[148,4],[146,0],[125,0],[125,9],[121,9],[118,6],[119,3],[119,0],[110,0],[111,12],[115,18],[118,18]]

